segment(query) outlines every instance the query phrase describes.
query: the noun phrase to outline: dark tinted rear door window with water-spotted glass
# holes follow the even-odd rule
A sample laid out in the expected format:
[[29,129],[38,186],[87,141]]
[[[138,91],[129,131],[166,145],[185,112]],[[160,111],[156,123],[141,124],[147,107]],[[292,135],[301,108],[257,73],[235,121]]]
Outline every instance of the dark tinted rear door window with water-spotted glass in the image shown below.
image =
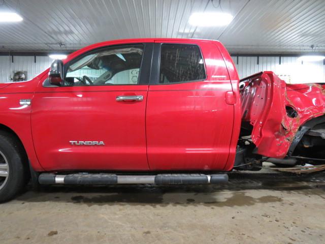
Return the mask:
[[206,79],[203,57],[197,45],[163,44],[160,51],[159,83]]

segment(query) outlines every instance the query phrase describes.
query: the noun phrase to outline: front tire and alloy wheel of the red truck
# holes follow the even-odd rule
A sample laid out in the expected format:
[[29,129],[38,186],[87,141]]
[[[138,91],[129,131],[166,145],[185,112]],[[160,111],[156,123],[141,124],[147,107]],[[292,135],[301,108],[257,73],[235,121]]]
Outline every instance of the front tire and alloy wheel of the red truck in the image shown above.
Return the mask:
[[0,202],[11,200],[28,180],[27,156],[11,134],[0,132]]

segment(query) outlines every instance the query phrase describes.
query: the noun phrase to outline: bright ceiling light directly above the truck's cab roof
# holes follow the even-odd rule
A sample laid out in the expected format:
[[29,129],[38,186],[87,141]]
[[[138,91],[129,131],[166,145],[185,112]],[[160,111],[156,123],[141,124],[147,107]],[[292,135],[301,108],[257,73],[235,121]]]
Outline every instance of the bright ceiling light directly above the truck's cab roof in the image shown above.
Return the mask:
[[228,13],[193,13],[188,22],[196,26],[222,26],[232,22],[233,16]]

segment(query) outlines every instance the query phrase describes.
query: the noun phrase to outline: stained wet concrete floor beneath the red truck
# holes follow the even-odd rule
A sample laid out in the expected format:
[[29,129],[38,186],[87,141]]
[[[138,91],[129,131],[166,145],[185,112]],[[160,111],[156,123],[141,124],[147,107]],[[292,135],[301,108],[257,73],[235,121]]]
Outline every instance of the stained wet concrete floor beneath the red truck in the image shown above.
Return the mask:
[[325,173],[224,186],[52,186],[0,206],[0,243],[325,243]]

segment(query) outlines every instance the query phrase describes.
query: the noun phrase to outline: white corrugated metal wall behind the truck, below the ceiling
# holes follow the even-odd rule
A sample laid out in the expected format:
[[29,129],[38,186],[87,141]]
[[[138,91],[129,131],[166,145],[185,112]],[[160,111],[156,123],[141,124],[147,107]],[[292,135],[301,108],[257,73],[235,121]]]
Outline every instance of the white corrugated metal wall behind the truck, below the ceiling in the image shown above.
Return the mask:
[[[325,82],[325,66],[323,62],[303,63],[297,57],[257,57],[233,56],[240,78],[244,78],[259,71],[274,71],[281,78],[290,83]],[[14,71],[27,71],[27,79],[50,67],[52,59],[47,56],[0,56],[0,82],[9,82]]]

